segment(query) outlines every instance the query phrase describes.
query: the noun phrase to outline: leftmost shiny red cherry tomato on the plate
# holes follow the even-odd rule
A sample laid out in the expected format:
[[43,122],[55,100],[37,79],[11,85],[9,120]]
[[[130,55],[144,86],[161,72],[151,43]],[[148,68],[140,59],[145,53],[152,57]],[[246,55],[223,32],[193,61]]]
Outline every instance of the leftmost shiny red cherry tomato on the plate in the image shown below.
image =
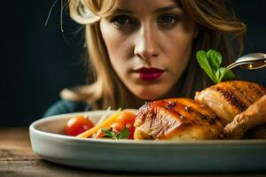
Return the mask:
[[90,121],[90,119],[86,119],[83,116],[77,116],[67,121],[65,134],[72,136],[79,135],[91,127],[94,127],[94,124]]

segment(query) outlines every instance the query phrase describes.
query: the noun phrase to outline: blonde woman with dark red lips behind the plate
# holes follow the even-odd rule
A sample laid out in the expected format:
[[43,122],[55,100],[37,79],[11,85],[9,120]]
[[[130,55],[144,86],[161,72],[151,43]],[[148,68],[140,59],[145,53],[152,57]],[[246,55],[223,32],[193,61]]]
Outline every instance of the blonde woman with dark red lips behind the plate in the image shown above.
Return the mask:
[[64,89],[46,116],[193,97],[211,84],[198,50],[219,50],[223,65],[243,50],[246,26],[224,0],[70,0],[69,9],[85,27],[93,83]]

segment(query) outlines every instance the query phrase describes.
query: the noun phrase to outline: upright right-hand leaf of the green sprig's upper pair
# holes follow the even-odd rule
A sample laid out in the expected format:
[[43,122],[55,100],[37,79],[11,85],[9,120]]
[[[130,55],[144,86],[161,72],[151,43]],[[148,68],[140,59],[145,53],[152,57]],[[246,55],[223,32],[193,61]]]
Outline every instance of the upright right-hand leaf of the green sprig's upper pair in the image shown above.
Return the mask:
[[217,71],[222,64],[222,54],[219,51],[207,50],[207,59],[214,71]]

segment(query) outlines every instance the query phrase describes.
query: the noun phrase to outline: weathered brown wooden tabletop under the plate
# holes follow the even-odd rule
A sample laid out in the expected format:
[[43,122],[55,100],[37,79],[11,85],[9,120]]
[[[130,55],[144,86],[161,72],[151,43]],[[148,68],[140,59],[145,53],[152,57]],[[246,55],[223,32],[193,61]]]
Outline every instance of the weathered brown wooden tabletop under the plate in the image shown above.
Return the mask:
[[222,174],[147,174],[147,173],[113,173],[57,165],[35,155],[31,149],[27,127],[0,128],[0,176],[64,176],[64,177],[113,177],[113,176],[186,176],[186,177],[235,177],[266,176],[265,173],[222,173]]

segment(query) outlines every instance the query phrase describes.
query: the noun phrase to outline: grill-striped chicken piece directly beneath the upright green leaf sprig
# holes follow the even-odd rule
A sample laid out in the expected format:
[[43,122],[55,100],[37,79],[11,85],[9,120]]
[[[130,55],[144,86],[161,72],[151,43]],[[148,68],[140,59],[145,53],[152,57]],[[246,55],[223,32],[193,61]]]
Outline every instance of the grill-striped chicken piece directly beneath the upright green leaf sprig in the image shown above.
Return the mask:
[[219,115],[226,125],[265,94],[266,89],[254,82],[223,81],[196,92],[195,99]]

